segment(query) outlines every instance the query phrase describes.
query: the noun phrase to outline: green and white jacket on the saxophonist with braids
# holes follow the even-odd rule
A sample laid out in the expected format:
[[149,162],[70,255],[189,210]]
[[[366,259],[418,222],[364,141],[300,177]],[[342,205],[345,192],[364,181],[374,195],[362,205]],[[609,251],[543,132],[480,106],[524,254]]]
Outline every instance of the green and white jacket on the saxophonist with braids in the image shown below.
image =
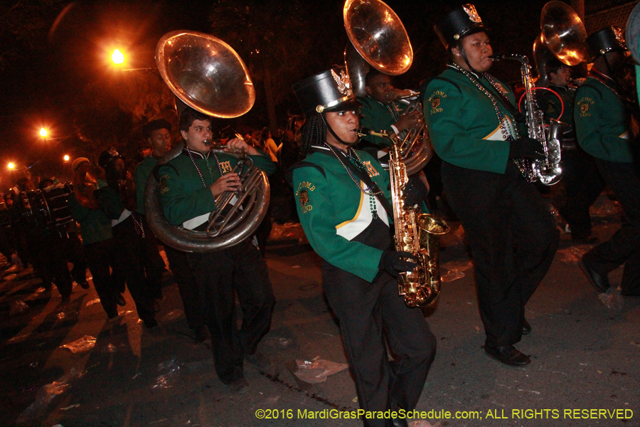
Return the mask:
[[[388,172],[367,152],[353,151],[390,201]],[[306,159],[292,168],[298,216],[311,247],[327,263],[372,282],[383,251],[392,243],[393,218],[376,196],[363,194],[326,146],[311,146]],[[362,181],[358,184],[366,189]]]

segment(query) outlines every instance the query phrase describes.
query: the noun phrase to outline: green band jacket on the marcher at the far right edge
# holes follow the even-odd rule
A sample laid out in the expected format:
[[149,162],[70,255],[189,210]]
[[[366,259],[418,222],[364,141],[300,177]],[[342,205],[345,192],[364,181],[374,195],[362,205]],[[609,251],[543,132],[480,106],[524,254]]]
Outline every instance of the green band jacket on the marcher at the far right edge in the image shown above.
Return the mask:
[[598,159],[631,163],[637,123],[609,86],[590,75],[578,88],[574,109],[578,144]]

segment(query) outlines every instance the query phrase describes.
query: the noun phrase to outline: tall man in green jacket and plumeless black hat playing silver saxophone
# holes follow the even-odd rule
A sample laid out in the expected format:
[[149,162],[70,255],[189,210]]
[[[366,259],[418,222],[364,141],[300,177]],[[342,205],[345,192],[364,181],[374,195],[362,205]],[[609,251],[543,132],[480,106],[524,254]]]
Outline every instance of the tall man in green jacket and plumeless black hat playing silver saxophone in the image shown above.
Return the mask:
[[508,86],[486,73],[493,51],[475,7],[459,6],[434,30],[451,61],[427,86],[425,117],[443,160],[444,191],[471,246],[484,351],[505,364],[528,364],[513,344],[531,332],[525,305],[553,261],[559,236],[513,159],[541,159],[542,147],[516,123]]

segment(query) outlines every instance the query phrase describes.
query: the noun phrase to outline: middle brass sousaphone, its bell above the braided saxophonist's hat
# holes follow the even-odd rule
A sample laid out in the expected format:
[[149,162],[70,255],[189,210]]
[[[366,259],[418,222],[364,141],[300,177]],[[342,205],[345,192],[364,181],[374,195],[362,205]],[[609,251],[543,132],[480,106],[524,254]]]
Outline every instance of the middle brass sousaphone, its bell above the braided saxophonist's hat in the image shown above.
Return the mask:
[[[346,0],[344,28],[352,46],[345,49],[345,64],[353,93],[365,96],[369,66],[388,75],[400,75],[411,67],[413,49],[402,21],[380,0]],[[410,108],[421,108],[410,105]],[[420,172],[433,156],[425,126],[412,129],[402,140],[402,159],[407,173]],[[384,166],[384,165],[383,165]]]

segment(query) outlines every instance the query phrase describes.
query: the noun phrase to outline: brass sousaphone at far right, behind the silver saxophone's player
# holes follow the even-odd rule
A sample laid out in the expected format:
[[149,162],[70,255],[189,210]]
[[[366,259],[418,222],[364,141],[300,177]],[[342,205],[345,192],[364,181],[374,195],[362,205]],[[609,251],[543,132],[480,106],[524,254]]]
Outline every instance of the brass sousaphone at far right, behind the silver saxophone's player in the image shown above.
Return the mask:
[[546,65],[552,58],[573,66],[587,58],[587,30],[575,11],[562,1],[550,1],[540,14],[540,36],[533,42],[533,59],[538,69],[535,85],[547,87]]

